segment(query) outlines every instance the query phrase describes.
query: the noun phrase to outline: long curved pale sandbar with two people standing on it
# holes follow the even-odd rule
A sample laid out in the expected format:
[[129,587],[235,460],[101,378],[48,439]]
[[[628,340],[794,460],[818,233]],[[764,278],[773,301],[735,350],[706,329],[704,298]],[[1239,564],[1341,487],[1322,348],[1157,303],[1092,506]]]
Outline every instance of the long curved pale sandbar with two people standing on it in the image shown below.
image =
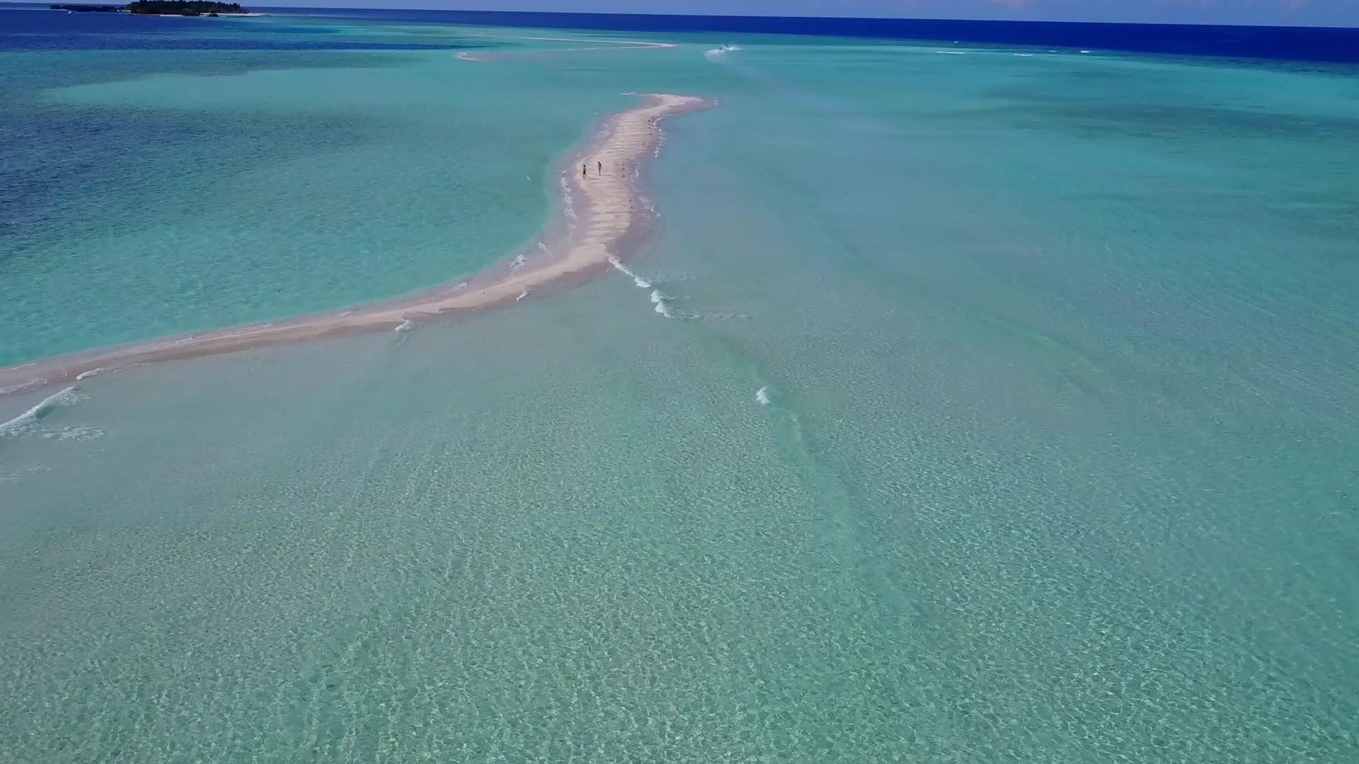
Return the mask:
[[[613,247],[635,228],[647,224],[639,204],[640,192],[633,185],[635,167],[650,159],[659,145],[660,121],[715,105],[712,101],[686,95],[644,95],[647,103],[607,117],[599,128],[602,139],[571,155],[573,162],[561,175],[565,192],[563,213],[548,224],[542,237],[529,250],[512,260],[499,261],[466,281],[348,310],[27,362],[0,368],[0,397],[73,382],[96,370],[234,353],[357,332],[393,330],[446,315],[514,305],[540,290],[575,285],[605,273],[612,269],[610,257],[625,256]],[[591,175],[576,175],[576,162],[583,163]],[[603,174],[597,173],[597,163],[603,164]],[[578,200],[583,211],[572,212],[572,200]],[[534,262],[527,260],[530,253],[535,254]],[[537,257],[538,254],[542,257]]]

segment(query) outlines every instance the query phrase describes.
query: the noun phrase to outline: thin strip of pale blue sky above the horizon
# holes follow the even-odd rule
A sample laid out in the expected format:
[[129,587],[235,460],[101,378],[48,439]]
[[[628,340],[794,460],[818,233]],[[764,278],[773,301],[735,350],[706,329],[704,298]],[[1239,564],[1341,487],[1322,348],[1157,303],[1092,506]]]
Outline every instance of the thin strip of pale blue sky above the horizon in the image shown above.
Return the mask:
[[1359,0],[269,0],[261,5],[1359,26]]

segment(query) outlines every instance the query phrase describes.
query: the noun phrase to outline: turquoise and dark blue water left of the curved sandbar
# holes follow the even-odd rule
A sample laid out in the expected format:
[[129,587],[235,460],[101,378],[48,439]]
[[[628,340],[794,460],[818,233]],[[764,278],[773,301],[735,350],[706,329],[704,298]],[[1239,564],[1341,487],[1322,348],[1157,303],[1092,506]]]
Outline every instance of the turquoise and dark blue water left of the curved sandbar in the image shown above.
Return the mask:
[[[321,37],[270,24],[219,26]],[[432,38],[382,31],[323,37]],[[625,99],[457,52],[0,50],[0,364],[390,298],[534,238],[553,162]]]

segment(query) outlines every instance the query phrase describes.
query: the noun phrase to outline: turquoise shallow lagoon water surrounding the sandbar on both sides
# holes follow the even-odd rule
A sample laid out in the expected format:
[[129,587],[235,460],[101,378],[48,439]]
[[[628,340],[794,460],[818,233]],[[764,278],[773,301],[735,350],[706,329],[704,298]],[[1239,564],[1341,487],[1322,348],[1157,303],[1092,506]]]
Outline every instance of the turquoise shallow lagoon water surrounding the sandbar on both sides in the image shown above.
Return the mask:
[[11,360],[457,277],[620,94],[722,105],[648,179],[674,319],[609,277],[0,439],[0,760],[1355,760],[1354,72],[671,39],[5,54],[253,144],[22,197]]

